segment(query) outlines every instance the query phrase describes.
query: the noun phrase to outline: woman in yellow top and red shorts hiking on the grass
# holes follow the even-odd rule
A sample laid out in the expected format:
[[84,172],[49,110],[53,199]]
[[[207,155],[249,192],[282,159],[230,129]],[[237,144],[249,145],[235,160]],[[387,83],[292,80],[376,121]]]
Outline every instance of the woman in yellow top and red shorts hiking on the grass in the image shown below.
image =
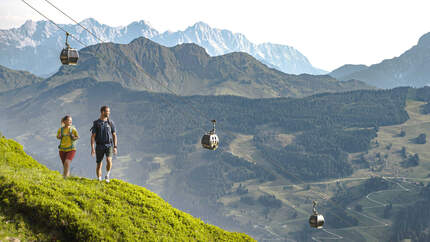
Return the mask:
[[69,115],[61,119],[61,128],[58,129],[57,139],[60,140],[58,146],[61,162],[63,163],[63,177],[70,175],[70,163],[75,157],[75,141],[79,139],[78,131],[72,126],[72,117]]

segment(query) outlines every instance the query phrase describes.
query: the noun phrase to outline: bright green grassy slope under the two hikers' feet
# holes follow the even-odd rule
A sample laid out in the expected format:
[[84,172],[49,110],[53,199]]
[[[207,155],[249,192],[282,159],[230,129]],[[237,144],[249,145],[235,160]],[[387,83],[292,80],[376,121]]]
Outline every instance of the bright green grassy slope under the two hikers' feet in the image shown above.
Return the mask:
[[205,224],[139,186],[120,180],[109,184],[77,177],[64,180],[26,155],[20,144],[4,138],[0,138],[0,205],[2,210],[19,211],[36,227],[61,231],[58,236],[67,240],[253,240]]

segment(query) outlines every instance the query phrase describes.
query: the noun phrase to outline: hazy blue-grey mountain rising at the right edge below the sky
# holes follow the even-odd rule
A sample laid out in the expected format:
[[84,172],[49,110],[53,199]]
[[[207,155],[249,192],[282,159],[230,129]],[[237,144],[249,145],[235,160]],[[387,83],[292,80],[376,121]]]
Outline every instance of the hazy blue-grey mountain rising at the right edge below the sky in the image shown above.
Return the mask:
[[399,57],[371,66],[344,65],[329,75],[339,80],[361,80],[379,88],[430,85],[430,33]]

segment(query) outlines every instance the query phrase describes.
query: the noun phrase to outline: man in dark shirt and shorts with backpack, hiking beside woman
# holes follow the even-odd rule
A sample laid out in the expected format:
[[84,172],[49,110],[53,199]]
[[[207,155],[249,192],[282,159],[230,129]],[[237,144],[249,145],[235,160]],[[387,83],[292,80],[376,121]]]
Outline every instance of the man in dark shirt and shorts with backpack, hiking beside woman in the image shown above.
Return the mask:
[[[110,170],[112,169],[112,155],[117,154],[117,136],[115,123],[109,119],[110,108],[100,108],[99,119],[93,122],[91,128],[91,155],[96,156],[96,174],[99,181],[102,180],[102,161],[106,155],[106,182],[109,182]],[[95,143],[95,147],[94,147]]]

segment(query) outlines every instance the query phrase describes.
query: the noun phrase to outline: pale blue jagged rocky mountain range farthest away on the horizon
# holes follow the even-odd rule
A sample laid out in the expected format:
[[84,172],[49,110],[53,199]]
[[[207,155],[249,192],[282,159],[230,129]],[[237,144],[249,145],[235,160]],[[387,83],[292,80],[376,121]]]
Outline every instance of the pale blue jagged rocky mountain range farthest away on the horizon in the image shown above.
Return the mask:
[[[314,68],[308,59],[293,47],[271,43],[257,45],[243,34],[211,28],[203,22],[198,22],[185,31],[164,33],[159,33],[145,21],[133,22],[122,27],[110,27],[90,18],[80,24],[104,42],[127,44],[135,38],[145,37],[166,46],[196,43],[204,47],[211,56],[242,51],[286,73],[327,73]],[[78,25],[60,26],[86,45],[100,42]],[[28,20],[19,28],[0,30],[0,65],[30,71],[39,76],[49,76],[60,66],[59,52],[64,47],[64,42],[64,32],[47,21]],[[70,40],[70,44],[78,49],[83,47],[73,39]]]

